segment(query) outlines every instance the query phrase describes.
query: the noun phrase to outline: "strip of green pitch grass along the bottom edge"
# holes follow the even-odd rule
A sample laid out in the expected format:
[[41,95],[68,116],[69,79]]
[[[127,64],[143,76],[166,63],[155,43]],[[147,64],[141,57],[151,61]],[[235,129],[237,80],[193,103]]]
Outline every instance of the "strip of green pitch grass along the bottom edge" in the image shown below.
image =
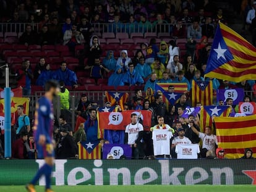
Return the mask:
[[[143,186],[92,186],[92,185],[79,185],[79,186],[53,186],[53,190],[55,192],[170,192],[170,191],[189,191],[189,192],[234,192],[234,191],[241,191],[241,192],[250,192],[256,191],[256,186],[253,185],[143,185]],[[24,186],[0,186],[0,191],[2,192],[25,192]],[[42,186],[36,186],[36,191],[43,192],[45,191]]]

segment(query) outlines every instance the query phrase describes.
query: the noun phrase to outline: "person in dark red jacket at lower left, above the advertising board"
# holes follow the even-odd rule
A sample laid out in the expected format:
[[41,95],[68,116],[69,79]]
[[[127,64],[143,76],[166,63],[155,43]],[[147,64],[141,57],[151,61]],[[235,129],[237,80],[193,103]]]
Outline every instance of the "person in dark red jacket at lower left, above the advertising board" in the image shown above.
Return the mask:
[[28,133],[21,133],[20,138],[12,143],[12,157],[16,159],[27,159],[25,142],[28,140]]

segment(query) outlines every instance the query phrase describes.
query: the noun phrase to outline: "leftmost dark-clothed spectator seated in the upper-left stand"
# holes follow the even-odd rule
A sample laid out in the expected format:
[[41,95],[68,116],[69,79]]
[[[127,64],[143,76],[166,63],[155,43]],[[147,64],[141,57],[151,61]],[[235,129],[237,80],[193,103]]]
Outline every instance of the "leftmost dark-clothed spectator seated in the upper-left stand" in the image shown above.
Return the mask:
[[37,35],[36,33],[32,30],[31,25],[26,26],[26,30],[22,35],[20,36],[20,44],[25,44],[25,46],[31,45],[31,44],[36,44],[37,40]]

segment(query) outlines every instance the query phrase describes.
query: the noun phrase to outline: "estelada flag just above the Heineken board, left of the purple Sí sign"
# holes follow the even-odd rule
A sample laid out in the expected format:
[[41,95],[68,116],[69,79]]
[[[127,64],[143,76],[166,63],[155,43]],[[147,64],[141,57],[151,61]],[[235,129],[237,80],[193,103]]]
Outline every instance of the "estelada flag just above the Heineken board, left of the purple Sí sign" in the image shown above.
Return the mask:
[[101,159],[100,141],[81,141],[79,146],[79,159]]

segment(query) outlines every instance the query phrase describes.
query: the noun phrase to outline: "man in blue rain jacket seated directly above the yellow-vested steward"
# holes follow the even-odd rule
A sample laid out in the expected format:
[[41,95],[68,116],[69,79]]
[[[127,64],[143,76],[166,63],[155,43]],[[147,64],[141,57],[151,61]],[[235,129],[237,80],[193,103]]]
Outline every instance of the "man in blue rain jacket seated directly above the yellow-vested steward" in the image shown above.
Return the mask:
[[61,62],[61,68],[56,70],[53,78],[58,81],[64,81],[66,86],[74,86],[77,88],[77,75],[74,71],[67,68],[67,63],[65,61]]

